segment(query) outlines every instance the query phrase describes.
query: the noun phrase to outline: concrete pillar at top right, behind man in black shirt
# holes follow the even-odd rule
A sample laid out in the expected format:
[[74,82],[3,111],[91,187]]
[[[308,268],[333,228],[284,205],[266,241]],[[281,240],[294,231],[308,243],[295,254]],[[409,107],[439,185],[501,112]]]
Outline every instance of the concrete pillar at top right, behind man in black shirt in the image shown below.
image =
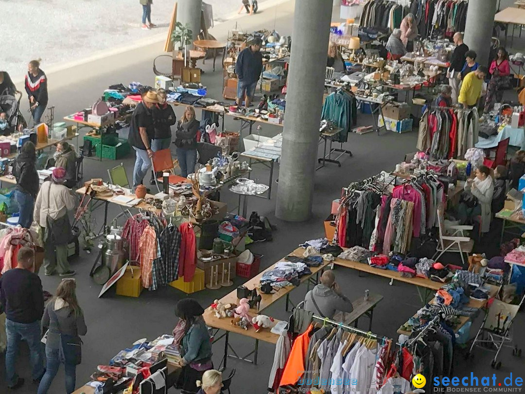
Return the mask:
[[486,66],[489,61],[490,39],[497,0],[469,0],[464,42],[476,51],[476,61]]

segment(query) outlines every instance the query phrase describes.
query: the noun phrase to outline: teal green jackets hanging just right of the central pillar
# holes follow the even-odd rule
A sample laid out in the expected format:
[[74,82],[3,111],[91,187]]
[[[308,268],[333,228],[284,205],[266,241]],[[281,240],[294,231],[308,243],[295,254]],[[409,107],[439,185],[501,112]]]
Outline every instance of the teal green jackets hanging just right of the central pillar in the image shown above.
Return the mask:
[[339,90],[325,98],[321,119],[330,120],[343,130],[334,138],[337,142],[346,142],[352,126],[357,124],[357,101],[355,96],[346,91]]

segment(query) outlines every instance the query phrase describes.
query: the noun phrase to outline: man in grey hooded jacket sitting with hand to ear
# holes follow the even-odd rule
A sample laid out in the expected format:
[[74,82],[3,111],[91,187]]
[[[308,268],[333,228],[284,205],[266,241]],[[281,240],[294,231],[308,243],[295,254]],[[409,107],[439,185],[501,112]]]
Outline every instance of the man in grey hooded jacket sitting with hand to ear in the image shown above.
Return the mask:
[[346,298],[335,282],[333,271],[321,275],[321,284],[304,296],[304,309],[320,317],[332,319],[336,312],[350,313],[354,310],[350,299]]

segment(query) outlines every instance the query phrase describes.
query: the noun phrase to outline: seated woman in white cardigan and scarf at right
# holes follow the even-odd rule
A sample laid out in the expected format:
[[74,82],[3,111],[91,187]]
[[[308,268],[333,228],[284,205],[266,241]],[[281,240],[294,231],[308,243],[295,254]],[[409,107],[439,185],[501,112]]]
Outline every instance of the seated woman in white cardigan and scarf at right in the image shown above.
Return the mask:
[[465,191],[477,200],[476,204],[464,201],[458,206],[458,219],[461,224],[472,223],[472,219],[481,216],[481,232],[487,233],[492,219],[492,195],[494,194],[494,181],[490,170],[485,165],[476,169],[476,177],[465,182]]

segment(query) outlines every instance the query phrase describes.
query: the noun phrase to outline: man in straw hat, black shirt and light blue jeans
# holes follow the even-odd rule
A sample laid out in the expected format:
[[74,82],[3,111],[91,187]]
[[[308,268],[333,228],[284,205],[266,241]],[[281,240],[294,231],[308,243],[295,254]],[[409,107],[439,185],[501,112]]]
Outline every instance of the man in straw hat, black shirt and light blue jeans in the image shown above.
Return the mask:
[[142,96],[142,101],[135,107],[131,117],[128,141],[137,154],[133,168],[133,189],[142,184],[151,167],[151,157],[153,156],[151,140],[154,134],[151,110],[158,102],[156,92],[148,91]]

